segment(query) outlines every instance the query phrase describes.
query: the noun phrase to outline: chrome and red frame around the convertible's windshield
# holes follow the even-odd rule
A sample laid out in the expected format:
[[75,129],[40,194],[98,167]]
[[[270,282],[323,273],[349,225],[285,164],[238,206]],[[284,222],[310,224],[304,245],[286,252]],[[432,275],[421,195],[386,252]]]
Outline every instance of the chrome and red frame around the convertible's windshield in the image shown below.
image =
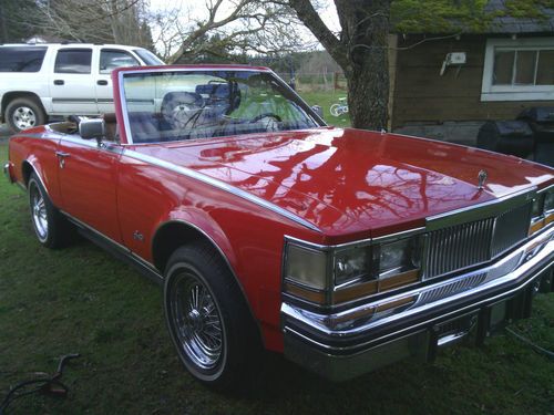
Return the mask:
[[[142,66],[142,68],[134,68],[134,69],[127,69],[127,68],[122,68],[115,70],[112,74],[114,77],[116,77],[116,90],[114,91],[114,95],[117,96],[117,106],[121,111],[121,115],[123,118],[123,129],[125,136],[122,137],[122,144],[125,145],[152,145],[152,144],[162,144],[164,142],[150,142],[150,143],[134,143],[133,141],[133,135],[131,132],[131,122],[129,118],[129,112],[127,112],[127,103],[126,103],[126,97],[125,97],[125,89],[124,89],[124,77],[126,75],[132,75],[132,74],[150,74],[150,73],[163,73],[163,72],[209,72],[209,71],[233,71],[233,72],[253,72],[253,73],[267,73],[270,76],[275,79],[275,81],[281,86],[283,89],[287,90],[288,93],[296,100],[297,104],[307,113],[308,116],[310,116],[314,122],[317,124],[316,128],[318,127],[326,127],[327,124],[326,122],[311,108],[306,101],[302,100],[298,93],[290,87],[289,84],[287,84],[285,81],[283,81],[274,71],[267,68],[259,68],[259,66],[244,66],[244,65],[195,65],[195,66],[178,66],[178,65],[172,65],[172,66],[157,66],[157,68],[147,68],[147,66]],[[114,82],[115,84],[115,82]],[[290,131],[296,131],[296,129],[290,129]],[[283,133],[287,133],[290,131],[283,131]],[[243,134],[240,134],[243,135]],[[228,138],[228,137],[237,137],[240,135],[227,135],[227,136],[217,136],[217,137],[212,137],[212,138],[192,138],[192,139],[175,139],[172,141],[172,143],[178,143],[178,142],[199,142],[199,141],[207,141],[207,139],[215,139],[215,138]],[[246,135],[246,134],[244,134]]]

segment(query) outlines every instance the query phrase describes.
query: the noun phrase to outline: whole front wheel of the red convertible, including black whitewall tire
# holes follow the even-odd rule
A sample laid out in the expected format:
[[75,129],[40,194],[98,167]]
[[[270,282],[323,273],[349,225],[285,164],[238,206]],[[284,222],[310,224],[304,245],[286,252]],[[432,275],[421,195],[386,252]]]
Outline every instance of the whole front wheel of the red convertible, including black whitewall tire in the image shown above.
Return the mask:
[[247,383],[259,357],[259,336],[227,264],[212,246],[184,246],[172,255],[164,309],[173,343],[194,377],[227,391]]

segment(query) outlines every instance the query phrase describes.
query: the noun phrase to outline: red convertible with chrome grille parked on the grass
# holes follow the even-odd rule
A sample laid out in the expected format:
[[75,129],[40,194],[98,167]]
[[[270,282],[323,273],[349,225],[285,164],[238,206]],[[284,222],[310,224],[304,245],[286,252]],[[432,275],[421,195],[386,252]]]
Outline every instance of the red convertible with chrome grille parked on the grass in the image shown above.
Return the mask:
[[554,170],[335,128],[270,70],[113,72],[115,114],[24,131],[8,178],[39,241],[70,227],[164,284],[198,380],[259,352],[345,380],[482,342],[552,290]]

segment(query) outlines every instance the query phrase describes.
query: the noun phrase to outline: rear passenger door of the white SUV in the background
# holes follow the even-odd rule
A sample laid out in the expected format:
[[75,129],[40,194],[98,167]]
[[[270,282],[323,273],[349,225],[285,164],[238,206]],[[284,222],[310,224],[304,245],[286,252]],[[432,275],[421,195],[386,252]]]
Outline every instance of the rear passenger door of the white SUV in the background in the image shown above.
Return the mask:
[[[92,48],[61,48],[50,79],[53,113],[94,115],[99,113],[92,75]],[[98,60],[98,56],[95,56]]]

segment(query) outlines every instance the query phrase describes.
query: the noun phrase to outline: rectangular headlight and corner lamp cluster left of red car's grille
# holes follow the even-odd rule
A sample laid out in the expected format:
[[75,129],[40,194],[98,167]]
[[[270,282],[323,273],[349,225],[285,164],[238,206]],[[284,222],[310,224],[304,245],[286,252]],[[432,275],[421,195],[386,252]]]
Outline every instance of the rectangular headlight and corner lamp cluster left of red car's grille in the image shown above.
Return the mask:
[[420,277],[421,239],[418,235],[337,249],[287,241],[284,290],[330,305],[408,286]]

